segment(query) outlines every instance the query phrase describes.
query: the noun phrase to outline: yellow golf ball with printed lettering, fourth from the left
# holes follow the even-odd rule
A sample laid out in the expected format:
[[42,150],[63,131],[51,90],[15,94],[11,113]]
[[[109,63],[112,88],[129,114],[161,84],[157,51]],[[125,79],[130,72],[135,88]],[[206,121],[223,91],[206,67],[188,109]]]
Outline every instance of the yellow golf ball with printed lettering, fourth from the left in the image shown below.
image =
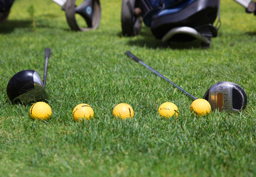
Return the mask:
[[174,103],[165,102],[159,106],[158,114],[160,114],[161,117],[168,118],[174,115],[178,116],[179,111],[178,107]]

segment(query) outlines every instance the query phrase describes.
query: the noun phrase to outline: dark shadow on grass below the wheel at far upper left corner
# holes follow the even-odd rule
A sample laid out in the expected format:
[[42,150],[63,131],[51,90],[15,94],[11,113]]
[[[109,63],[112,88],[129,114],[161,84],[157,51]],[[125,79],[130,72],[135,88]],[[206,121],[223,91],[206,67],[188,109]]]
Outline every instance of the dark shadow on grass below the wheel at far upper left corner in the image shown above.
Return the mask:
[[0,23],[0,33],[11,33],[15,28],[28,28],[32,26],[31,20],[6,20]]

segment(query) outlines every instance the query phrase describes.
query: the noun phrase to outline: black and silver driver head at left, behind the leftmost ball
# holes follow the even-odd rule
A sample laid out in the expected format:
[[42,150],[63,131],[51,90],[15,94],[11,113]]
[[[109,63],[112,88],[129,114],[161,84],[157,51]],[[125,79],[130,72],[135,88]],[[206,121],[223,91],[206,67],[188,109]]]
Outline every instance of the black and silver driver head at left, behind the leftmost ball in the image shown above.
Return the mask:
[[7,96],[14,103],[31,103],[48,99],[45,87],[38,73],[34,70],[23,70],[9,80]]

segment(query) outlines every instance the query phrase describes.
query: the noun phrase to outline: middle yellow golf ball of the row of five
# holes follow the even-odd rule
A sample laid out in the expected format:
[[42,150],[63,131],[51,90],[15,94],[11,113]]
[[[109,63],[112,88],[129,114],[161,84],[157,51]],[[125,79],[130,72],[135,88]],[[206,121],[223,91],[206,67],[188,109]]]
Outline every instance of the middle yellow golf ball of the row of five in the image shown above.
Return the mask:
[[133,108],[129,104],[120,103],[113,109],[113,116],[121,119],[132,118],[134,116]]

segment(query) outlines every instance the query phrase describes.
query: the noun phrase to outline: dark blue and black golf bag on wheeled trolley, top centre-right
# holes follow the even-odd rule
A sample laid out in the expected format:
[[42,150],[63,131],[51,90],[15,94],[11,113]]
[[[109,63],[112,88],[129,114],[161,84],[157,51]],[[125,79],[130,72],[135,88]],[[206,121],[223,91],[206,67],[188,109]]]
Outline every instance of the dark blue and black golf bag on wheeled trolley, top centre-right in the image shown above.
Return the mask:
[[122,31],[125,36],[138,35],[142,20],[162,43],[199,39],[208,47],[220,27],[213,24],[220,0],[123,0]]

